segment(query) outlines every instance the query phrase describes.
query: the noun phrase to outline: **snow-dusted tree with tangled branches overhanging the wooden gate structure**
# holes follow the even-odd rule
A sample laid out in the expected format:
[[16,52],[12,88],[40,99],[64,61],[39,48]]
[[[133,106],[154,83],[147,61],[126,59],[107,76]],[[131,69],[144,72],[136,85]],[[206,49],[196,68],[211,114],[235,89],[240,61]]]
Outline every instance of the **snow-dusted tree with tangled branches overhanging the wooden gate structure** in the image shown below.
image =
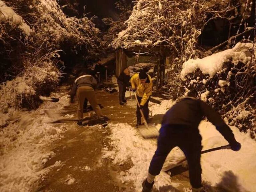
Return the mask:
[[[246,4],[247,11],[251,10],[250,2]],[[196,56],[198,37],[207,23],[215,18],[230,22],[238,19],[241,5],[239,0],[137,0],[124,23],[126,29],[119,32],[112,46],[116,49],[163,44],[185,61]]]

